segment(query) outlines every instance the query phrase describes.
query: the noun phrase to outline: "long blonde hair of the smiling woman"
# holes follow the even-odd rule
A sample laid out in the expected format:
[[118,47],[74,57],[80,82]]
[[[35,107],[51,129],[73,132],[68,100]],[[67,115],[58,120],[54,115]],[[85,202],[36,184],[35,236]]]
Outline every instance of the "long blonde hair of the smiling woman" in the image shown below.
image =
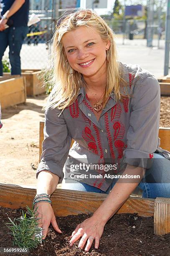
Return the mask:
[[[58,20],[56,31],[53,36],[53,89],[49,97],[47,106],[52,108],[64,109],[71,105],[77,98],[79,88],[84,86],[82,74],[72,69],[68,64],[66,71],[64,63],[67,61],[61,39],[69,31],[73,31],[80,26],[94,27],[98,31],[101,39],[110,41],[107,61],[107,86],[103,97],[103,107],[106,105],[111,92],[114,90],[115,100],[121,100],[120,82],[122,70],[117,61],[117,50],[114,41],[114,32],[107,23],[94,11],[84,9],[71,13]],[[68,63],[68,62],[67,62]]]

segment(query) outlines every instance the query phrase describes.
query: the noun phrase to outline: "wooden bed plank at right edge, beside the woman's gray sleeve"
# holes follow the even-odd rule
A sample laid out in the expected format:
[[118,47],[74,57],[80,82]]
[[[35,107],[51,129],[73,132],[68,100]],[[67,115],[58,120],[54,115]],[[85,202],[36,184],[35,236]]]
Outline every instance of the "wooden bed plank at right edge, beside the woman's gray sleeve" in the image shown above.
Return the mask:
[[159,138],[160,138],[160,147],[170,151],[170,128],[160,127]]

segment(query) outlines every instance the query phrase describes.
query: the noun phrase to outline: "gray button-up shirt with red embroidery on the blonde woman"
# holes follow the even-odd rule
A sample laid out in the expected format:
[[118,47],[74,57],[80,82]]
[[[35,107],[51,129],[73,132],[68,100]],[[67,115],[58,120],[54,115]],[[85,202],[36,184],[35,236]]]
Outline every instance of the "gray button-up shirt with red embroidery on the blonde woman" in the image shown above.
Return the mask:
[[[61,183],[66,163],[67,180],[79,180],[106,191],[112,183],[109,175],[104,176],[106,172],[120,174],[127,164],[148,169],[155,151],[170,159],[170,152],[159,147],[160,85],[157,79],[138,65],[120,64],[128,84],[122,86],[120,92],[123,95],[128,92],[131,97],[115,102],[112,91],[99,121],[84,87],[80,88],[77,100],[65,110],[46,110],[43,153],[36,177],[48,170],[58,175]],[[70,148],[72,139],[74,144]]]

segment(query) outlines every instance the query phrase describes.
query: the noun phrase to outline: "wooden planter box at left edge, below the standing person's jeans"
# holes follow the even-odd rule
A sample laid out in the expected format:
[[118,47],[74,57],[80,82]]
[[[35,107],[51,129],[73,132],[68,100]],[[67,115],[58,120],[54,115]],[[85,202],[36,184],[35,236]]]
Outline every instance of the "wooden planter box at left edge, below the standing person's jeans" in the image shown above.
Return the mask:
[[25,78],[0,77],[1,108],[4,109],[23,102],[26,102]]

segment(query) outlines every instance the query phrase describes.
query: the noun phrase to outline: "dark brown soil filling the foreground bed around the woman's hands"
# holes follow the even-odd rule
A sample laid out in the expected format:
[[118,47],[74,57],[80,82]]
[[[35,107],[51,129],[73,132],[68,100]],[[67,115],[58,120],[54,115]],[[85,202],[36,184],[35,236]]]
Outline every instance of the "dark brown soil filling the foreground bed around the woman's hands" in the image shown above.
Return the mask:
[[[25,209],[23,209],[26,212]],[[5,223],[21,216],[21,209],[13,210],[0,207],[0,247],[12,246],[13,237]],[[170,255],[170,233],[164,236],[155,236],[153,233],[153,217],[140,217],[134,214],[114,215],[105,225],[98,249],[94,244],[89,252],[78,248],[79,241],[73,247],[69,246],[71,233],[76,225],[90,215],[69,215],[57,218],[59,228],[63,231],[58,234],[50,225],[45,241],[30,255],[36,256],[168,256]],[[21,255],[21,254],[5,254]],[[25,254],[24,254],[25,255]]]

